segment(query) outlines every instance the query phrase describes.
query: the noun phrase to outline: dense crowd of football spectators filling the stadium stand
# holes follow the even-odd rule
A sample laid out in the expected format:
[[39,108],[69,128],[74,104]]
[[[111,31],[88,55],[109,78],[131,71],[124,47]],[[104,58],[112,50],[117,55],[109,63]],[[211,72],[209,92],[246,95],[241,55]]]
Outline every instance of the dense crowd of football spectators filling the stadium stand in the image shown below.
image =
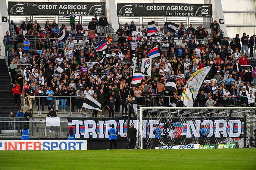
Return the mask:
[[[80,26],[80,21],[76,29],[70,22],[69,30],[64,24],[59,28],[55,21],[52,24],[46,21],[44,28],[36,21],[34,23],[29,21],[27,25],[23,22],[16,38],[17,42],[14,42],[7,32],[3,41],[6,55],[10,59],[15,98],[19,98],[19,95],[23,95],[23,99],[32,95],[48,96],[41,99],[42,110],[46,105],[50,110],[53,103],[57,103],[55,105],[57,112],[59,102],[61,102],[61,110],[65,112],[65,107],[71,100],[71,110],[74,111],[76,105],[80,112],[84,97],[91,95],[101,103],[102,112],[99,112],[99,116],[104,115],[104,108],[113,112],[113,108],[109,109],[107,104],[110,103],[109,100],[114,101],[114,111],[120,111],[125,116],[128,112],[127,103],[133,104],[129,97],[139,97],[137,103],[142,105],[144,101],[140,96],[143,94],[161,94],[162,97],[170,97],[170,99],[159,98],[159,106],[176,103],[180,100],[189,77],[207,66],[212,66],[206,77],[209,83],[204,83],[201,87],[195,99],[195,106],[235,105],[242,102],[250,105],[252,98],[255,98],[256,68],[251,70],[250,67],[246,67],[249,65],[248,49],[250,49],[250,57],[255,49],[255,35],[250,37],[244,33],[240,39],[237,34],[229,42],[216,21],[211,23],[210,33],[202,25],[194,28],[190,24],[185,28],[183,22],[180,22],[175,33],[169,31],[167,25],[160,27],[156,22],[157,31],[154,37],[147,37],[145,24],[137,29],[134,22],[131,22],[130,25],[126,23],[124,27],[120,25],[115,32],[119,36],[117,42],[114,42],[113,46],[108,46],[107,53],[116,56],[112,55],[103,63],[95,64],[95,61],[102,57],[102,52],[95,52],[97,45],[94,40],[102,40],[102,31],[106,32],[107,25],[104,14],[97,19],[97,22],[96,19],[97,16],[89,22],[87,37],[82,33],[83,27]],[[98,26],[100,36],[96,37],[95,31],[97,32]],[[27,33],[24,36],[25,30]],[[69,36],[64,42],[57,38],[63,30],[69,31]],[[164,34],[162,42],[157,41],[160,31]],[[139,40],[129,38],[133,36],[142,38]],[[174,39],[178,41],[174,42]],[[30,51],[31,40],[36,43],[33,52]],[[142,58],[148,58],[149,50],[156,46],[161,56],[152,59],[151,77],[145,77],[139,87],[130,88],[133,64],[119,62],[133,61],[133,57],[137,58],[137,70],[141,70]],[[88,48],[76,50],[77,47]],[[66,71],[59,75],[55,70],[61,63],[66,67]],[[177,80],[177,88],[173,93],[166,90],[164,85],[166,79],[174,77]],[[229,95],[232,100],[227,100],[230,98]],[[76,98],[69,99],[67,98],[69,96]],[[31,109],[33,103],[28,101]],[[17,106],[16,99],[15,102]],[[37,99],[35,103],[39,110]],[[27,106],[27,103],[24,104]],[[121,110],[120,106],[122,106]],[[94,113],[94,116],[97,116],[97,113]]]

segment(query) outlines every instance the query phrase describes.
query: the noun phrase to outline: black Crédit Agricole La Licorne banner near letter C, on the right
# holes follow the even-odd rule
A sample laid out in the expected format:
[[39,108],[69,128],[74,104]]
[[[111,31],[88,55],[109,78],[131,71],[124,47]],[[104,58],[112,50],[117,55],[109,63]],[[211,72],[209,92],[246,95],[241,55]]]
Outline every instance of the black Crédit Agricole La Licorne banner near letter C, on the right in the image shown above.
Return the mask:
[[117,15],[212,17],[212,4],[117,3]]

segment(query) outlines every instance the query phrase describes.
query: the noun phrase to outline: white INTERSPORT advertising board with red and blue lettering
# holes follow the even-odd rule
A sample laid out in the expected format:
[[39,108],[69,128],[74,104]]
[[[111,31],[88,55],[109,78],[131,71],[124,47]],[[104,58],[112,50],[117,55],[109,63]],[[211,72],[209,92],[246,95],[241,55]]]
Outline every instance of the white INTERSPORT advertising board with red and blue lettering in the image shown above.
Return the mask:
[[0,151],[87,150],[86,140],[20,140],[0,141]]

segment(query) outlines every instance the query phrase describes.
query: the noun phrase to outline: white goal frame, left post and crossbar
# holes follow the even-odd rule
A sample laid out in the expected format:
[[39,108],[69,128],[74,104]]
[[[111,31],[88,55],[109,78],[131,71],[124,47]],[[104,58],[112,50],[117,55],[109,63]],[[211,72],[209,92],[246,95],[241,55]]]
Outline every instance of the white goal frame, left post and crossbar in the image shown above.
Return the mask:
[[256,107],[140,107],[140,148],[142,149],[143,144],[143,124],[142,124],[142,109],[256,109]]

